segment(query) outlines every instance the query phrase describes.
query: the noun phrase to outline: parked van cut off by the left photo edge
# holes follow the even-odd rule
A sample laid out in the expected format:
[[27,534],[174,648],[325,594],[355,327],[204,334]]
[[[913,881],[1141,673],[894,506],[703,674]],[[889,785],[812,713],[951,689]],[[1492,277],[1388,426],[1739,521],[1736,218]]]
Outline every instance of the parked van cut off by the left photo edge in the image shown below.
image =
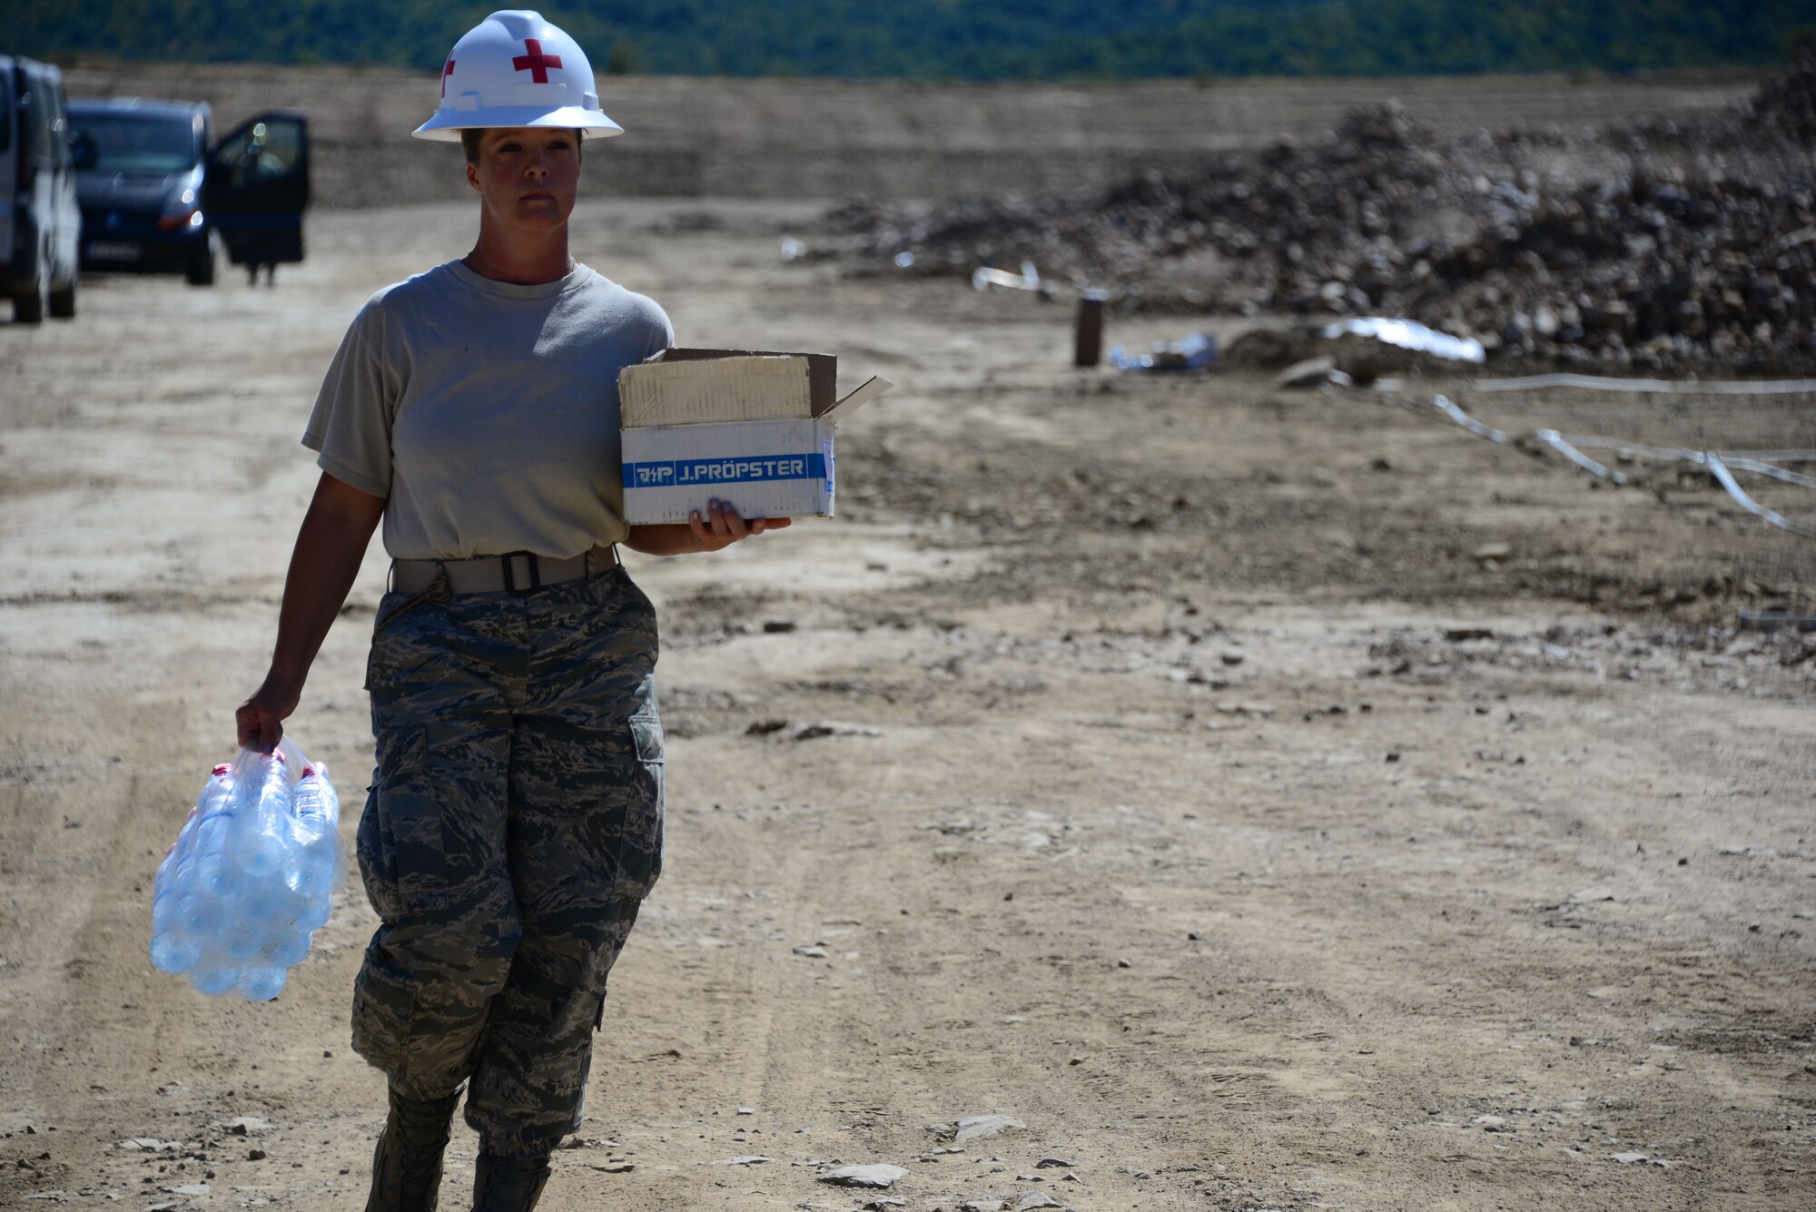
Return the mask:
[[0,290],[15,323],[76,314],[80,239],[64,73],[0,54]]

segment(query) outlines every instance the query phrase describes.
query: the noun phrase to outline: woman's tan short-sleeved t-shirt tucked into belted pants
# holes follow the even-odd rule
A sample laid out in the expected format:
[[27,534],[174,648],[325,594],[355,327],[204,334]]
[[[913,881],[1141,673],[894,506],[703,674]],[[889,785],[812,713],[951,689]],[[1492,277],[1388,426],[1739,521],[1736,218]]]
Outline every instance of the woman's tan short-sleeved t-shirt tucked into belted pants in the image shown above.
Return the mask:
[[668,316],[585,265],[518,287],[459,261],[367,301],[303,445],[385,497],[394,559],[619,542],[617,372],[674,345]]

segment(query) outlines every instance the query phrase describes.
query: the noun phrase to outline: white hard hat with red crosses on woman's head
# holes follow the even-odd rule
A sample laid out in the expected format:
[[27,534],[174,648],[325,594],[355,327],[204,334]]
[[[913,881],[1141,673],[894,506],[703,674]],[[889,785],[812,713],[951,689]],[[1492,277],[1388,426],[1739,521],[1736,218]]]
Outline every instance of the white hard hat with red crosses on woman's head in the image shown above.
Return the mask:
[[583,138],[623,134],[599,111],[579,44],[528,9],[505,9],[467,31],[441,67],[441,107],[410,134],[459,140],[479,127],[568,127]]

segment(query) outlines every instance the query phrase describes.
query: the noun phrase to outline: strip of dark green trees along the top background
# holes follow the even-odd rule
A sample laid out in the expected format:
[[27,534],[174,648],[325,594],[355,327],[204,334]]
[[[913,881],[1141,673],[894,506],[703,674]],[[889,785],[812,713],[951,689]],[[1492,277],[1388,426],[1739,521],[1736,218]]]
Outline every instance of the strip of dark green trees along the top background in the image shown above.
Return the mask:
[[[0,53],[434,71],[492,4],[0,0]],[[565,0],[596,71],[897,80],[1763,65],[1816,0]]]

